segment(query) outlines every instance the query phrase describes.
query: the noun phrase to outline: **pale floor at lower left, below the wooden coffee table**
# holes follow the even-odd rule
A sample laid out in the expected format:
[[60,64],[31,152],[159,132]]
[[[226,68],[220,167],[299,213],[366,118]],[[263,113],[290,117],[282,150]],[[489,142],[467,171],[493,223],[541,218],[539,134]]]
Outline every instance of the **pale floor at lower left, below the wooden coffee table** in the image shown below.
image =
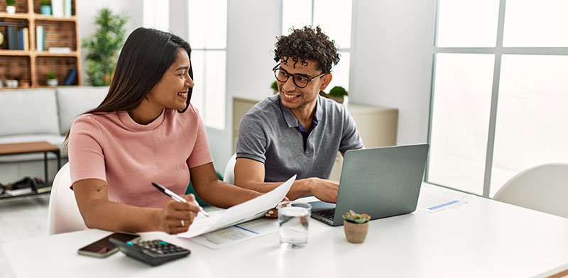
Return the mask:
[[[48,204],[49,194],[0,200],[0,246],[13,240],[47,235]],[[1,251],[0,277],[16,277]]]

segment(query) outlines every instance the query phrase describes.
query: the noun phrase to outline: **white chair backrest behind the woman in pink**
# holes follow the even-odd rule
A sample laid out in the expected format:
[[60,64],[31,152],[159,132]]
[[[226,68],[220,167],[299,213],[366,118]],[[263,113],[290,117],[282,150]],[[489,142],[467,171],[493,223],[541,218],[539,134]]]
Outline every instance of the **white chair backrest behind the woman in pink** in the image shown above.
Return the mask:
[[48,233],[50,235],[74,232],[84,228],[84,221],[70,186],[71,174],[69,162],[67,162],[59,169],[51,186],[48,208]]

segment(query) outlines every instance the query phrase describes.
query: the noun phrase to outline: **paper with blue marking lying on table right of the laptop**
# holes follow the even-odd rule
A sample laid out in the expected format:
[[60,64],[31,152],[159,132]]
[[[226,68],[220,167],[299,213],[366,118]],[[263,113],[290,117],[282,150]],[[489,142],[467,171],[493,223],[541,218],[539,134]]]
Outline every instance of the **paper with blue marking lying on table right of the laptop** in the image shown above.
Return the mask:
[[469,199],[471,199],[470,194],[423,186],[417,208],[420,211],[435,213],[446,208],[457,208],[466,204]]

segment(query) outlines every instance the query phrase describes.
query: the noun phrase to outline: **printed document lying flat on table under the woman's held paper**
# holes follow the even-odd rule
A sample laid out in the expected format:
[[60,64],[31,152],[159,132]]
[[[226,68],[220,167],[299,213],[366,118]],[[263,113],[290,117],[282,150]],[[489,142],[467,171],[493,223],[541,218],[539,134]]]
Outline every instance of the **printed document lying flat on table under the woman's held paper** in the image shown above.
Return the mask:
[[198,235],[191,238],[191,240],[211,249],[219,249],[245,240],[275,233],[277,231],[277,219],[258,218],[253,221],[222,228],[221,230],[215,230],[204,235]]

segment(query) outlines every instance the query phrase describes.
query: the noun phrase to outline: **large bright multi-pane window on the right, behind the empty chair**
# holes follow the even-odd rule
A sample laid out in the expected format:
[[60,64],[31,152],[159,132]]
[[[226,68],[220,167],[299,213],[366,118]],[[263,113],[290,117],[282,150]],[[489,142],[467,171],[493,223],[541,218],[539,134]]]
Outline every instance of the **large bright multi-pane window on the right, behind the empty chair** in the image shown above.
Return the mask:
[[568,2],[439,0],[426,181],[491,197],[568,162]]

